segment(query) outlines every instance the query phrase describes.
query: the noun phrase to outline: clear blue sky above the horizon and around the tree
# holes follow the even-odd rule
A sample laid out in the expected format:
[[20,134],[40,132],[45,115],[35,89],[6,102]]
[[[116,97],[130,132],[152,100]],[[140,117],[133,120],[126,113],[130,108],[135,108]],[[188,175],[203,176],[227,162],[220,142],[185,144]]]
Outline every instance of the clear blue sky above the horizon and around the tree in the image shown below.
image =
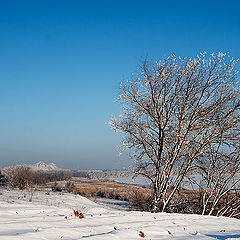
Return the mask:
[[122,168],[119,83],[146,56],[240,56],[240,1],[0,1],[0,167]]

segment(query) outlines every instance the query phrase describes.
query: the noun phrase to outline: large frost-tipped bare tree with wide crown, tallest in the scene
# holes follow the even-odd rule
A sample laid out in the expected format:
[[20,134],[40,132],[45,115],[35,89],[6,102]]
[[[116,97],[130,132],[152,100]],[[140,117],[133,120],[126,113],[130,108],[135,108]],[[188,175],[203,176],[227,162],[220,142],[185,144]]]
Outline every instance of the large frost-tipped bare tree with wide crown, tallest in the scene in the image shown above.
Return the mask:
[[125,133],[136,174],[150,179],[153,211],[165,211],[209,145],[225,139],[218,126],[239,108],[234,66],[222,53],[170,56],[154,65],[143,62],[139,76],[121,84],[123,113],[110,125]]

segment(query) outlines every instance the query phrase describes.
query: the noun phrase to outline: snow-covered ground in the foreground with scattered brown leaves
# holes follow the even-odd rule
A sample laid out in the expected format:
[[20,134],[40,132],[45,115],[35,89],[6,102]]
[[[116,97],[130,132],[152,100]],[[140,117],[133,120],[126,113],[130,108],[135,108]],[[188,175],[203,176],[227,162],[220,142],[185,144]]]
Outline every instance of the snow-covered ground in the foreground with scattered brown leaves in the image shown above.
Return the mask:
[[[26,192],[0,189],[0,240],[240,239],[237,219],[119,211],[78,195],[46,192],[35,192],[29,202]],[[73,209],[85,218],[76,218]]]

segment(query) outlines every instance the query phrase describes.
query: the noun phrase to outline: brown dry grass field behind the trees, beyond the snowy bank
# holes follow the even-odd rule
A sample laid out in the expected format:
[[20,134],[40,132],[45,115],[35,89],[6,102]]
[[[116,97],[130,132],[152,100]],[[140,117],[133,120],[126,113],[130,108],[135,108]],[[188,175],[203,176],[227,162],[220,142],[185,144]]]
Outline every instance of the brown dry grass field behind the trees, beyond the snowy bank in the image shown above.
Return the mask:
[[[58,181],[57,186],[64,189],[67,181]],[[74,183],[75,194],[86,197],[104,197],[117,200],[128,201],[134,209],[150,210],[150,201],[152,190],[137,185],[116,183],[110,180],[93,180],[87,178],[72,178]],[[54,182],[47,183],[43,188],[51,188]],[[39,186],[38,186],[39,187]],[[229,194],[227,200],[231,200],[232,196]],[[226,204],[226,199],[220,202]],[[175,213],[194,213],[201,214],[202,212],[202,193],[200,191],[193,191],[181,189],[176,192],[173,200],[167,208],[167,212]],[[237,217],[239,218],[239,216]]]

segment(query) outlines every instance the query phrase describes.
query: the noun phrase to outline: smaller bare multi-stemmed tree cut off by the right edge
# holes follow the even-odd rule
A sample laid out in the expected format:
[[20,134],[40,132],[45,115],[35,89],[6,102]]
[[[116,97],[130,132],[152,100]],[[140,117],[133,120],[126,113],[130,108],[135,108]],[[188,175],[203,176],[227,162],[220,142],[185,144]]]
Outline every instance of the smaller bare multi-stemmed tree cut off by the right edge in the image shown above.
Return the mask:
[[[231,92],[228,94],[231,98]],[[219,135],[208,144],[205,155],[197,162],[198,177],[194,181],[190,176],[189,180],[199,185],[203,193],[203,215],[236,216],[240,214],[239,98],[232,99],[223,109],[216,108],[216,111],[215,128]]]

